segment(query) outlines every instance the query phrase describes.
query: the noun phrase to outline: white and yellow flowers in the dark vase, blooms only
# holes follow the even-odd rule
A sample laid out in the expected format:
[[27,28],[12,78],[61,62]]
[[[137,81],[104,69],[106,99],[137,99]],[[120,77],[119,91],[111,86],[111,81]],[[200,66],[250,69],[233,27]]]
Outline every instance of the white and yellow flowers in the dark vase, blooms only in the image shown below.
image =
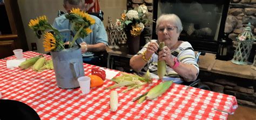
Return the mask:
[[152,15],[147,11],[147,6],[142,4],[133,10],[124,11],[116,25],[119,29],[130,32],[132,36],[140,35],[146,25],[153,22]]

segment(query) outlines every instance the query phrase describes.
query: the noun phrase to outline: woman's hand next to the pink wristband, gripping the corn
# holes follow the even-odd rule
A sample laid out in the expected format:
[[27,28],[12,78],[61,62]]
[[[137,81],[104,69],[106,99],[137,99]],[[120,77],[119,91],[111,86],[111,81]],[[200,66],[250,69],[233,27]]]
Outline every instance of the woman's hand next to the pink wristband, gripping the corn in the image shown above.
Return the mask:
[[170,67],[174,65],[171,50],[165,46],[163,50],[158,53],[158,61],[165,61]]

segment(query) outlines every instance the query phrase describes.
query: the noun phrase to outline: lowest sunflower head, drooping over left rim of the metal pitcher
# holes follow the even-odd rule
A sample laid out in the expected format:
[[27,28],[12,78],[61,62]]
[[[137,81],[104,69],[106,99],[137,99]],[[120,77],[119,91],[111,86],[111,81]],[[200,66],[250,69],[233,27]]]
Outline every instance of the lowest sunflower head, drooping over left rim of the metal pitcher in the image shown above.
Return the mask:
[[51,33],[45,33],[44,34],[44,42],[43,42],[43,47],[44,51],[51,51],[56,48],[56,39]]

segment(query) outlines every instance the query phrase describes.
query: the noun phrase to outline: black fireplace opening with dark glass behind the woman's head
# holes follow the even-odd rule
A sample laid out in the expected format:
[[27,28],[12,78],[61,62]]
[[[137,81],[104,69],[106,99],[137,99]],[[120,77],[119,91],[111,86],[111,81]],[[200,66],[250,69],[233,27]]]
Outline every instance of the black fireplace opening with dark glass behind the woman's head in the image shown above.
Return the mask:
[[[217,41],[223,38],[230,0],[154,0],[153,19],[174,13],[183,24],[179,40],[191,43],[194,50],[217,53]],[[153,23],[152,39],[157,39]]]

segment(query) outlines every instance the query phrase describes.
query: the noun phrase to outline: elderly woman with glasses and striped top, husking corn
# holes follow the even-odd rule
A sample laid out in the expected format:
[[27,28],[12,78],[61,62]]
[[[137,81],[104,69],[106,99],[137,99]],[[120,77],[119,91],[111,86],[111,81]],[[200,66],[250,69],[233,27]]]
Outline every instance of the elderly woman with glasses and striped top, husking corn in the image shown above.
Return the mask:
[[[166,76],[180,77],[181,80],[194,81],[199,73],[198,64],[190,43],[178,41],[183,30],[181,21],[176,14],[163,14],[156,22],[158,40],[151,40],[137,55],[130,59],[134,71],[143,70],[157,74],[157,62],[166,62]],[[159,43],[165,47],[159,51]]]

